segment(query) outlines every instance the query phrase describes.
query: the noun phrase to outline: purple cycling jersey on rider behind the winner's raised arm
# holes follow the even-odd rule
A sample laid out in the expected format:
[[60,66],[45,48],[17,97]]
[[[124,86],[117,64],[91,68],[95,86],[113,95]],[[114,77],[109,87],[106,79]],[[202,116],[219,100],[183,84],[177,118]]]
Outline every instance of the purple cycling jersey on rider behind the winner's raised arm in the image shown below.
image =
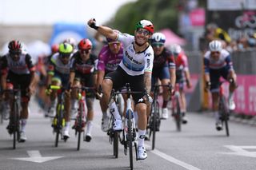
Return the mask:
[[122,46],[117,54],[111,53],[108,45],[104,45],[101,52],[98,54],[98,70],[112,72],[118,68],[122,61],[123,49]]

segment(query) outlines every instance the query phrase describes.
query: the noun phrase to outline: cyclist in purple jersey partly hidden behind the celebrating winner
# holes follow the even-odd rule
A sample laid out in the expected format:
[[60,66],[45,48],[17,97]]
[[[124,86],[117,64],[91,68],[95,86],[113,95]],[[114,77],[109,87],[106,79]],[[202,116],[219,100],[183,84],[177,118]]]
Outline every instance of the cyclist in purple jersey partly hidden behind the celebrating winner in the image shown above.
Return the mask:
[[[117,33],[119,31],[114,30]],[[112,40],[106,38],[108,42],[107,45],[104,45],[100,53],[98,54],[98,77],[97,77],[97,89],[102,85],[103,78],[107,73],[113,72],[118,68],[118,64],[122,61],[123,57],[123,48],[122,43],[117,40]],[[100,100],[100,105],[102,109],[102,131],[107,132],[109,127],[109,117],[104,110],[107,109],[107,105],[104,105],[104,102]]]

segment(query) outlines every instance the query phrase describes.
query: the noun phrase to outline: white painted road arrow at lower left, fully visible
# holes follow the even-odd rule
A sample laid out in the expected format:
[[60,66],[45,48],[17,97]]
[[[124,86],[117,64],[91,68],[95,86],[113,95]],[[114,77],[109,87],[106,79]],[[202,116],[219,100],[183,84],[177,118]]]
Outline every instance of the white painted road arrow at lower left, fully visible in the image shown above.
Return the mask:
[[11,160],[24,160],[29,162],[43,163],[49,160],[56,160],[63,156],[46,156],[42,157],[41,153],[38,150],[27,151],[27,154],[30,157],[20,157],[20,158],[10,158]]

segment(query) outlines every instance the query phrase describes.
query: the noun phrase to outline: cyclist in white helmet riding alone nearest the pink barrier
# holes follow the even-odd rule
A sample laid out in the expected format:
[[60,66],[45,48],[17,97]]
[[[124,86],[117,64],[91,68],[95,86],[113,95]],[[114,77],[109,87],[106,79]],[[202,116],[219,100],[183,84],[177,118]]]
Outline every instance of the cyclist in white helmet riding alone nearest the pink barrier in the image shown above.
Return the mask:
[[209,51],[204,56],[206,89],[212,93],[213,111],[217,130],[222,130],[222,121],[218,113],[218,88],[220,77],[230,81],[229,108],[234,110],[234,90],[236,74],[234,73],[230,53],[222,49],[222,42],[214,40],[209,43]]

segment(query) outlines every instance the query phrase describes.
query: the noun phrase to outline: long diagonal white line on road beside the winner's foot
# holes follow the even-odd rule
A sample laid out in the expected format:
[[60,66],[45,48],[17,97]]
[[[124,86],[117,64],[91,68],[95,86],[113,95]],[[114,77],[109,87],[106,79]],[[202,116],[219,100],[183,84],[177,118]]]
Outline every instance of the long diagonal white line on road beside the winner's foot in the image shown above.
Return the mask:
[[179,166],[189,169],[189,170],[200,170],[199,168],[196,168],[191,164],[187,164],[186,162],[183,162],[182,160],[177,160],[173,156],[169,156],[166,153],[159,151],[158,149],[154,148],[154,150],[150,150],[151,147],[148,144],[145,144],[145,146],[147,148],[147,151],[150,151],[150,152],[154,153],[155,155],[160,156],[165,160],[168,160],[171,163],[178,164]]

